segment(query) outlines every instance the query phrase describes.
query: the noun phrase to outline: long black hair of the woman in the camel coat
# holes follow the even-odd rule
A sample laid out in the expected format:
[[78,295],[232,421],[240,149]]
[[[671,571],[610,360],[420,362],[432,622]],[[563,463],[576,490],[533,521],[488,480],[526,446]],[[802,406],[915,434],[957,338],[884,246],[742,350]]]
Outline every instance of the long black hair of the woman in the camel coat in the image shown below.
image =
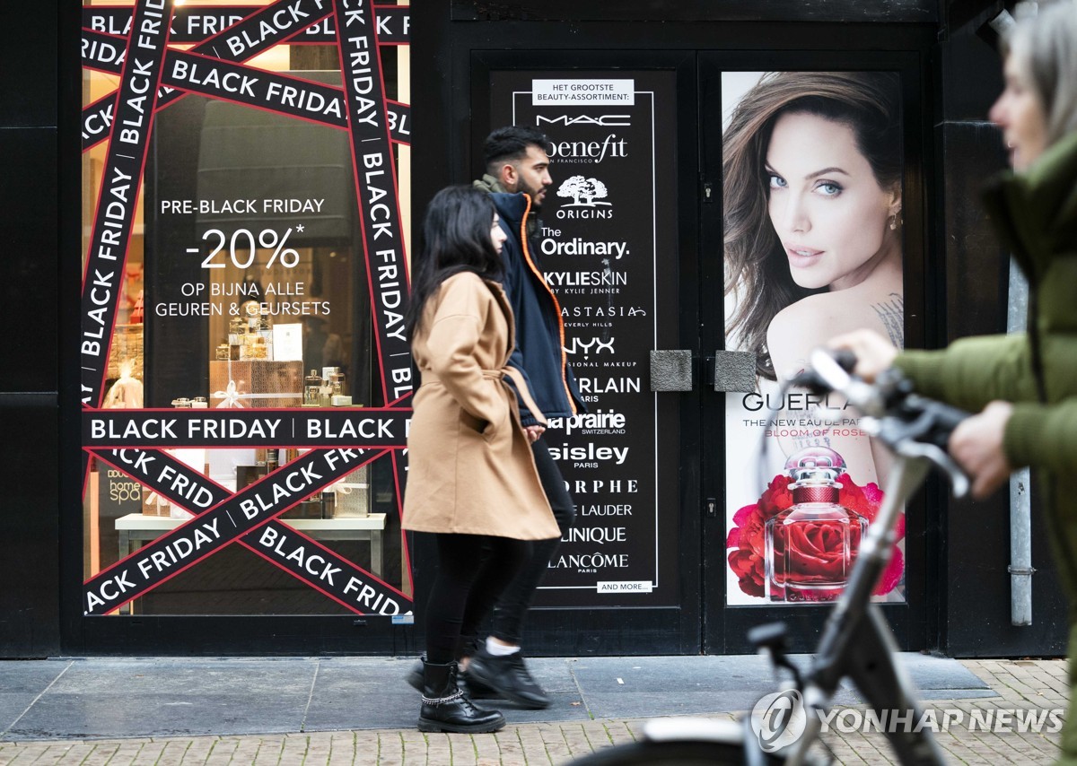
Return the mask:
[[461,271],[498,279],[504,271],[490,229],[496,211],[485,191],[471,186],[447,186],[430,200],[422,221],[423,245],[411,260],[411,298],[404,327],[414,338],[422,310],[440,284]]

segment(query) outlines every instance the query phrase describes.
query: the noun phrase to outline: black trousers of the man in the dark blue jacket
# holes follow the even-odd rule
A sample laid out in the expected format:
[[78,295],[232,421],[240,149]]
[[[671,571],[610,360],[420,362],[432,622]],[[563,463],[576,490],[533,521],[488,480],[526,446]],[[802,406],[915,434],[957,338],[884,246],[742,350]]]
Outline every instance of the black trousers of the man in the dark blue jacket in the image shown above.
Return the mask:
[[[549,456],[549,451],[543,439],[531,445],[534,453],[535,468],[538,469],[538,480],[549,500],[554,519],[561,530],[561,537],[569,534],[576,517],[576,508],[572,496],[564,488],[561,469]],[[493,606],[493,626],[490,635],[505,643],[520,646],[523,642],[523,620],[535,588],[542,581],[550,559],[561,544],[560,538],[537,540],[527,543],[527,561],[517,571],[512,581],[502,590],[494,592],[493,583],[477,583],[467,602],[463,626],[461,628],[461,653],[471,655],[478,637],[479,626]],[[471,644],[471,646],[468,646]]]

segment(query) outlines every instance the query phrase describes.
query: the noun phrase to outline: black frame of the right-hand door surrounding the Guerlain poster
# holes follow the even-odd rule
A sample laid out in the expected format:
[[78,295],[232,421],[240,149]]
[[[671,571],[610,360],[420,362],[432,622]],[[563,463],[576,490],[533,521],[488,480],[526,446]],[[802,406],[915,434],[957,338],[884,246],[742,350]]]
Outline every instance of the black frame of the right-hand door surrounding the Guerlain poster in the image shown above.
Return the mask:
[[[905,221],[905,315],[906,342],[922,347],[925,340],[925,274],[928,258],[928,199],[924,178],[929,162],[929,125],[923,104],[928,101],[926,61],[909,52],[848,52],[848,51],[705,51],[700,52],[700,178],[709,183],[717,203],[702,205],[700,215],[701,286],[710,286],[712,296],[721,296],[723,264],[711,253],[723,252],[722,222],[722,100],[721,75],[723,71],[784,71],[784,70],[876,70],[895,71],[900,74],[905,122],[905,175],[903,215]],[[701,303],[710,312],[701,317],[702,345],[722,349],[725,345],[722,301],[712,297]],[[704,497],[725,498],[724,466],[725,407],[727,396],[739,394],[704,395],[701,420],[719,423],[721,428],[703,432],[702,471]],[[703,537],[725,540],[725,501],[719,501],[722,512],[703,522]],[[936,506],[937,513],[937,506]],[[927,635],[928,613],[937,608],[935,597],[928,595],[928,567],[937,541],[926,534],[927,522],[925,493],[921,493],[906,510],[906,593],[904,604],[881,605],[890,620],[898,646],[905,650],[924,649],[931,643]],[[717,552],[711,552],[716,554]],[[723,549],[724,554],[724,549]],[[725,556],[704,558],[703,590],[703,652],[708,654],[737,654],[754,651],[745,634],[750,627],[765,622],[783,621],[789,625],[795,651],[811,649],[822,630],[827,609],[806,607],[727,607]],[[714,619],[722,615],[721,620]]]

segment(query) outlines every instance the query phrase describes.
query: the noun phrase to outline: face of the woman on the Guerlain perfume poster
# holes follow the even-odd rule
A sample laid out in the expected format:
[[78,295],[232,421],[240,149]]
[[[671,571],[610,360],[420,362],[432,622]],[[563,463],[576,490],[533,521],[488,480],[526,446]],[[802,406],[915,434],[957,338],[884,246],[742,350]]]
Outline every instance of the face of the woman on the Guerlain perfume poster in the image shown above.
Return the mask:
[[801,287],[852,287],[899,246],[886,235],[900,196],[879,186],[848,125],[783,114],[766,159],[770,222]]

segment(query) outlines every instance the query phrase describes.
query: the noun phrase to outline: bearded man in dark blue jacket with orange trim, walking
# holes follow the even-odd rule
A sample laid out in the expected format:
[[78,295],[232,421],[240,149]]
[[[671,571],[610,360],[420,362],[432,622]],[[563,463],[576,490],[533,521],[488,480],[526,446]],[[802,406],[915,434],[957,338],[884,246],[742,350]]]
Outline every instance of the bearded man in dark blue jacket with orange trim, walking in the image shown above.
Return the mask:
[[[561,307],[543,276],[534,240],[537,212],[553,183],[545,146],[546,137],[534,128],[494,130],[484,146],[486,174],[474,185],[490,193],[508,236],[502,250],[503,282],[516,316],[516,349],[509,364],[523,373],[535,405],[546,417],[572,417],[586,408],[565,356]],[[564,537],[575,506],[542,439],[543,426],[522,401],[520,415],[531,438],[538,478]],[[473,691],[481,693],[482,686],[489,686],[526,707],[549,705],[549,697],[523,664],[520,644],[523,618],[559,543],[556,538],[534,543],[530,561],[499,598],[490,636],[479,643],[467,665],[465,678]]]

